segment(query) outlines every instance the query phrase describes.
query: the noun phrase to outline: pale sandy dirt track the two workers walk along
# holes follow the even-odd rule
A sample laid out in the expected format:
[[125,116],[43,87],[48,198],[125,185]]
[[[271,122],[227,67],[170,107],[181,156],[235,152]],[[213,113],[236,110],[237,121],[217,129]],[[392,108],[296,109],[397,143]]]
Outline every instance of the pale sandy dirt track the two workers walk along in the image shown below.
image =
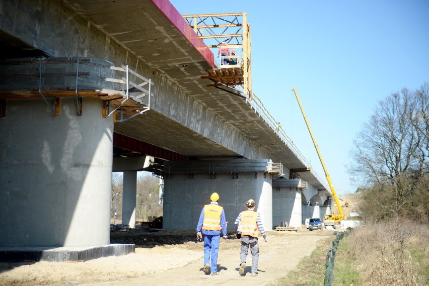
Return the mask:
[[294,269],[319,239],[333,238],[332,233],[305,229],[268,232],[268,242],[259,240],[257,277],[250,276],[250,253],[245,276],[238,274],[240,240],[233,235],[221,239],[219,275],[212,276],[202,272],[203,245],[196,242],[193,231],[115,233],[112,239],[134,243],[135,253],[84,262],[0,263],[0,285],[265,285]]

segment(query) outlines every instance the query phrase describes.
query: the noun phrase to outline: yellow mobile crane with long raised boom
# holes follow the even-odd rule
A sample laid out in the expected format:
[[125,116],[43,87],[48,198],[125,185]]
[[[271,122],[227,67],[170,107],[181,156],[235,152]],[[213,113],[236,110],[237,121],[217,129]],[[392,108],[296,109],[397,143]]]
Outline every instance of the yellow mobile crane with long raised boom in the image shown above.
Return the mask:
[[308,131],[310,132],[311,139],[313,140],[314,147],[316,148],[317,155],[319,156],[320,162],[322,163],[323,171],[325,172],[326,180],[328,181],[332,197],[335,200],[336,208],[338,209],[338,214],[337,214],[335,212],[335,206],[332,205],[332,209],[333,209],[332,215],[328,215],[328,214],[324,215],[323,216],[323,224],[324,224],[325,228],[326,228],[326,226],[332,226],[333,228],[336,228],[338,226],[338,222],[341,221],[342,219],[344,219],[344,213],[342,212],[341,204],[339,203],[339,199],[338,199],[337,194],[335,193],[335,189],[332,185],[331,176],[329,175],[328,171],[326,170],[326,166],[325,166],[325,163],[323,162],[322,155],[320,154],[319,147],[317,146],[316,139],[314,139],[313,132],[311,131],[310,124],[308,123],[308,119],[307,119],[307,116],[305,115],[303,106],[302,106],[300,98],[298,96],[298,92],[295,88],[292,88],[292,90],[295,93],[295,97],[297,98],[301,112],[304,116],[304,120],[305,120],[305,123],[307,124]]

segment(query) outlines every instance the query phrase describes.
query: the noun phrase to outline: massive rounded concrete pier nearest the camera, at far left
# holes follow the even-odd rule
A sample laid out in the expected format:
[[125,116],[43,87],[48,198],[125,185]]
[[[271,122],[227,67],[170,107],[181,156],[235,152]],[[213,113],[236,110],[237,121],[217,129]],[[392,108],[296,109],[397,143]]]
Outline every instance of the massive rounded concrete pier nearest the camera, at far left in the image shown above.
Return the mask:
[[[52,100],[48,100],[53,107]],[[101,101],[8,100],[0,118],[2,246],[109,244],[113,118]],[[7,222],[7,223],[6,223]]]

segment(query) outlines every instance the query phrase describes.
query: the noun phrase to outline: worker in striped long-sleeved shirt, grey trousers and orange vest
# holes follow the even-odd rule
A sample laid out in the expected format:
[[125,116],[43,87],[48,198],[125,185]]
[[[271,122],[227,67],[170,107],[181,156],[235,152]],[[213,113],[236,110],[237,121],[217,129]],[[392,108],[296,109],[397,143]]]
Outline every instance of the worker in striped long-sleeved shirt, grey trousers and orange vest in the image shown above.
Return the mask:
[[240,268],[238,273],[244,275],[246,268],[247,252],[250,248],[252,253],[252,276],[258,275],[259,260],[259,233],[267,242],[267,235],[261,221],[261,215],[255,212],[256,203],[252,199],[246,202],[247,211],[241,212],[235,220],[238,232],[241,232]]

